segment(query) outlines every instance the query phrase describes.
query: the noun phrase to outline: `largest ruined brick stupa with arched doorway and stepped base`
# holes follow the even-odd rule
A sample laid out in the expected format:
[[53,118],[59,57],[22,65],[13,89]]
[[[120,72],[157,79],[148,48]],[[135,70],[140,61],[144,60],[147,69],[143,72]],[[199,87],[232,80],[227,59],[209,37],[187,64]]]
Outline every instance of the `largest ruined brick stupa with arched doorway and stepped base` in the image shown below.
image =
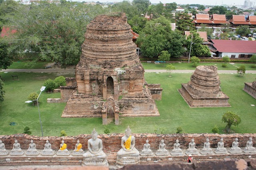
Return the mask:
[[124,13],[96,17],[86,27],[76,78],[60,87],[67,105],[62,117],[159,116],[154,99],[161,99],[159,84],[148,85],[132,42]]

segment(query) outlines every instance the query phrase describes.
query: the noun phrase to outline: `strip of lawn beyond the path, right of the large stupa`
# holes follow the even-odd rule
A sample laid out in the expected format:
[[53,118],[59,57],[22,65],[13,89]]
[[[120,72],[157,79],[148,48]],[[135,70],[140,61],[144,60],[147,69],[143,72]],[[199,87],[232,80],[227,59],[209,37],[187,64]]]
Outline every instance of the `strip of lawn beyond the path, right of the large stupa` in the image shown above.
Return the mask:
[[[160,63],[160,64],[154,64],[154,63],[145,63],[142,62],[142,65],[144,69],[166,69],[166,65],[170,63]],[[193,67],[192,63],[171,63],[176,70],[194,70],[196,67]],[[216,63],[199,63],[198,65],[215,65],[218,67],[218,70],[236,70],[237,67],[240,67],[241,65],[246,66],[246,70],[256,70],[256,68],[252,68],[251,66],[254,64],[241,64],[241,63],[235,63],[234,65],[231,65],[227,63],[227,67],[222,67],[223,63],[216,62]]]

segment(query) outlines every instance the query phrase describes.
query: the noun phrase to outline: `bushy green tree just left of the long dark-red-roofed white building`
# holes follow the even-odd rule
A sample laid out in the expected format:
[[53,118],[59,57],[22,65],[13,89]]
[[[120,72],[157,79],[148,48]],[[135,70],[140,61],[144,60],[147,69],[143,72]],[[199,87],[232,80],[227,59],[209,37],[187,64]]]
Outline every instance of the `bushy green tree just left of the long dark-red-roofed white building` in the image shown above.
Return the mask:
[[210,49],[207,47],[207,45],[202,44],[203,39],[200,38],[199,34],[194,31],[190,31],[190,35],[187,38],[187,49],[190,49],[191,35],[193,35],[193,38],[190,56],[210,56]]

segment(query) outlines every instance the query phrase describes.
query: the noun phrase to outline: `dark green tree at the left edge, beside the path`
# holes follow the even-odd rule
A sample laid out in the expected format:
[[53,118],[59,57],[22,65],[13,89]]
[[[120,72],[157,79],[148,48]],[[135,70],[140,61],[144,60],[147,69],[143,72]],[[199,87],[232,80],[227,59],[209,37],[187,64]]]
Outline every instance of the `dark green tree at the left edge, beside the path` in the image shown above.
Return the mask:
[[7,69],[12,64],[12,55],[9,55],[8,47],[8,43],[0,38],[0,70]]

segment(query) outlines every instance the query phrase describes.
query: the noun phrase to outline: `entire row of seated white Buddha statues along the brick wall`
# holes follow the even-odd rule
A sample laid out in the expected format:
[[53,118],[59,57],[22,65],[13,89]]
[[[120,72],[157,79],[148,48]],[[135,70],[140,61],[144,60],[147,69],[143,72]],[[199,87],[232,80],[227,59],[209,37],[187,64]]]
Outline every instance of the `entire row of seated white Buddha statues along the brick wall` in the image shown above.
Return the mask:
[[[98,138],[98,133],[95,129],[93,129],[91,137],[88,140],[88,151],[84,152],[82,149],[82,144],[77,141],[75,145],[75,149],[72,152],[73,156],[83,156],[84,158],[84,165],[108,165],[108,161],[106,160],[107,155],[103,152],[102,148],[102,140]],[[252,146],[252,138],[250,137],[249,140],[246,142],[246,147],[242,150],[240,147],[238,147],[238,138],[235,139],[234,142],[232,142],[232,147],[229,149],[229,151],[224,147],[223,138],[220,139],[218,142],[217,148],[215,149],[215,154],[227,154],[230,152],[230,154],[242,154],[244,152],[245,154],[256,154],[256,149]],[[20,144],[17,140],[15,140],[13,144],[13,148],[10,151],[10,155],[18,156],[23,155],[24,152],[20,148]],[[33,142],[33,140],[30,141],[30,144],[28,146],[28,150],[26,150],[27,156],[37,156],[40,153],[36,149],[36,144]],[[55,151],[52,150],[51,144],[48,140],[46,140],[46,144],[44,144],[44,149],[41,151],[42,156],[52,156],[55,154]],[[64,140],[62,140],[62,143],[60,144],[59,150],[56,152],[57,156],[68,156],[70,155],[70,152],[67,149],[67,144],[64,143]],[[129,126],[125,130],[125,135],[121,138],[121,149],[117,152],[117,164],[124,165],[129,161],[133,161],[131,163],[136,163],[139,161],[139,155],[141,156],[148,156],[153,155],[154,153],[150,149],[150,144],[148,139],[146,140],[146,143],[143,146],[143,150],[139,152],[135,148],[135,137],[131,135],[131,130]],[[159,144],[158,150],[155,152],[156,156],[168,156],[169,151],[166,149],[166,144],[164,143],[164,139],[161,140]],[[180,148],[179,140],[177,139],[174,143],[173,149],[171,150],[170,154],[172,156],[183,156],[184,153],[182,152],[182,149]],[[198,155],[198,150],[196,148],[196,143],[194,142],[194,139],[191,140],[191,142],[188,144],[188,149],[185,152],[186,155],[193,154]],[[206,138],[206,142],[204,142],[204,146],[200,151],[200,154],[213,154],[212,148],[210,148],[210,142],[209,139]],[[4,143],[0,140],[0,156],[7,156],[8,151],[5,149]],[[126,162],[126,163],[124,163]]]

